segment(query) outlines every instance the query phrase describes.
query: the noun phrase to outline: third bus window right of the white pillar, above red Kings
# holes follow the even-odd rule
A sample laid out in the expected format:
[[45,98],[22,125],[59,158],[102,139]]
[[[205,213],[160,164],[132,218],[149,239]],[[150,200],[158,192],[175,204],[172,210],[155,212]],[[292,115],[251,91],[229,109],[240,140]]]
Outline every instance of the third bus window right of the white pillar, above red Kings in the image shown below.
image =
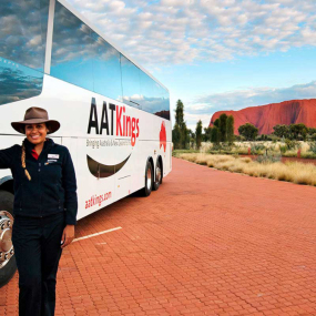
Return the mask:
[[140,85],[140,69],[134,65],[129,59],[121,54],[121,70],[122,70],[122,86],[123,98],[122,102],[128,105],[141,108],[141,85]]

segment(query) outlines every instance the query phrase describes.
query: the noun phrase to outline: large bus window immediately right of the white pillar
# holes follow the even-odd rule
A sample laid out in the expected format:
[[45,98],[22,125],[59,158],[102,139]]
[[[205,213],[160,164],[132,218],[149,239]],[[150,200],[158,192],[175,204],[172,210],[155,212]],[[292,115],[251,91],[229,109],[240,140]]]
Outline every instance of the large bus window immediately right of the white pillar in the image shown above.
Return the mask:
[[91,29],[55,2],[51,75],[93,91]]

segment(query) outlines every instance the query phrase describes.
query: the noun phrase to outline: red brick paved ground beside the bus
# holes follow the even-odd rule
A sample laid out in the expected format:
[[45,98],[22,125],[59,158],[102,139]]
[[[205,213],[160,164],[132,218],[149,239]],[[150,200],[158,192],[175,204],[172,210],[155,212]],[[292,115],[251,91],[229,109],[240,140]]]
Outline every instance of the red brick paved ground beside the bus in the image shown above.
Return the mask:
[[[80,221],[57,315],[316,315],[316,188],[177,159],[149,198]],[[0,289],[17,315],[18,277]]]

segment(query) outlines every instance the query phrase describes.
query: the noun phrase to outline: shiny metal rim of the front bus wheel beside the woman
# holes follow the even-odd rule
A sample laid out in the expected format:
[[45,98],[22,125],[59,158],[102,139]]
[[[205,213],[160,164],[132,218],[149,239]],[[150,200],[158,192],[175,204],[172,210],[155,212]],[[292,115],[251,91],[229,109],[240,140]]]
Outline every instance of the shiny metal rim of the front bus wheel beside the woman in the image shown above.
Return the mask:
[[12,244],[13,216],[7,211],[0,211],[0,269],[14,255]]

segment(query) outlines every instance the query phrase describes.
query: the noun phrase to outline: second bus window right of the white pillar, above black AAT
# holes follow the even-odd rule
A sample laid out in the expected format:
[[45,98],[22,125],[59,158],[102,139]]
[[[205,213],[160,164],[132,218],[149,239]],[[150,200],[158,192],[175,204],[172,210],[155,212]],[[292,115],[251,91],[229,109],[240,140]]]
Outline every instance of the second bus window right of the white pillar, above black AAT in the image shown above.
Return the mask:
[[120,53],[92,31],[94,92],[114,100],[122,98]]

